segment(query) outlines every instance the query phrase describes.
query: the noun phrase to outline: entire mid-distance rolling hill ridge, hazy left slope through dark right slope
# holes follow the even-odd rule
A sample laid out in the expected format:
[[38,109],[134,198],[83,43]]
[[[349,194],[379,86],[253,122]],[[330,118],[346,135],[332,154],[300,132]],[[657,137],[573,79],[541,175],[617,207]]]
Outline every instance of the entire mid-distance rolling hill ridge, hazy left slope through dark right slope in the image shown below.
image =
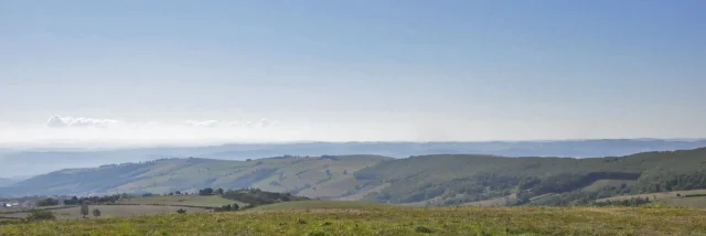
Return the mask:
[[[257,187],[312,199],[409,205],[574,205],[618,195],[706,189],[706,148],[607,158],[435,154],[279,157],[252,161],[162,159],[67,169],[0,193],[168,193]],[[502,200],[502,201],[501,201]]]

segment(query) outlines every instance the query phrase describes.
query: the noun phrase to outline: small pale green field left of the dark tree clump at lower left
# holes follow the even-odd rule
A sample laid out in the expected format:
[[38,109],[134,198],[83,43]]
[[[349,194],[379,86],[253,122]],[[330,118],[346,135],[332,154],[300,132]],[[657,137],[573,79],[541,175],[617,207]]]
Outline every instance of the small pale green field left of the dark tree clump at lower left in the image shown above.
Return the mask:
[[205,206],[205,207],[218,207],[225,204],[237,203],[240,206],[245,204],[242,202],[226,200],[217,195],[200,196],[200,195],[173,195],[173,196],[146,196],[120,200],[120,204],[164,204],[164,205],[190,205],[190,206]]

